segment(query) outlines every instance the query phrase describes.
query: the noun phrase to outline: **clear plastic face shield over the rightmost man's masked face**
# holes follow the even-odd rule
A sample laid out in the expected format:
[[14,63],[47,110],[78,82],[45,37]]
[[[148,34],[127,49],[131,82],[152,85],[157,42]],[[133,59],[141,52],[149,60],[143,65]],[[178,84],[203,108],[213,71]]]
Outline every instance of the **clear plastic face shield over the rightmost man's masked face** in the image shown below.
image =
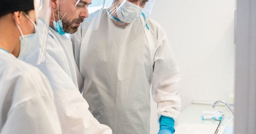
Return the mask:
[[[108,16],[118,25],[128,26],[136,23],[135,27],[147,26],[147,20],[154,6],[155,0],[106,0],[104,8],[107,8]],[[141,23],[140,21],[145,21]]]

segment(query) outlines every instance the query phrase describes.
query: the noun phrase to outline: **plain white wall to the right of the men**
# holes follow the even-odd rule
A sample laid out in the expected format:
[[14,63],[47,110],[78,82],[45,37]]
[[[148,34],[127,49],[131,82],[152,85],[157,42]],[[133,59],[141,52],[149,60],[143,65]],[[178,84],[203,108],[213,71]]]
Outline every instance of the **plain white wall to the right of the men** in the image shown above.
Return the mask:
[[[164,27],[180,67],[182,109],[234,94],[235,7],[236,0],[156,0],[151,18]],[[159,128],[156,106],[151,134]]]

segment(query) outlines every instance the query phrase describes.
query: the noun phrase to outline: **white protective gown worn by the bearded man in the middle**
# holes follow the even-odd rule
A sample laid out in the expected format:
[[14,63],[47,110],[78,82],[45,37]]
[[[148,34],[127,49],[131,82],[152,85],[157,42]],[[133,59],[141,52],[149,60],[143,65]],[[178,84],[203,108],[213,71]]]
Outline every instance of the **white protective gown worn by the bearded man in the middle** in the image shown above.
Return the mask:
[[[26,56],[26,62],[39,68],[49,79],[57,113],[64,134],[112,134],[112,130],[99,124],[88,110],[89,106],[78,88],[80,73],[75,64],[72,42],[65,35],[50,28],[45,62],[36,65],[39,47]],[[81,76],[80,76],[81,77]]]

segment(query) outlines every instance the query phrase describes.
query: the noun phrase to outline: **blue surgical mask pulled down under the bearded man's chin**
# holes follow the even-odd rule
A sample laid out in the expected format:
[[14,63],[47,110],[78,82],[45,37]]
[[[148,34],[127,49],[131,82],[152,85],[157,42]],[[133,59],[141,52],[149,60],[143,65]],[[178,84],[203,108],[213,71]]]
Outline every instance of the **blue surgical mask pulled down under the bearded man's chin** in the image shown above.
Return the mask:
[[[58,18],[59,18],[59,3],[58,3],[58,0],[57,0],[57,9],[58,9]],[[66,15],[66,13],[64,14],[64,16]],[[64,17],[63,16],[63,17]],[[63,31],[63,25],[62,25],[62,19],[63,17],[56,22],[55,20],[55,16],[54,16],[54,11],[53,11],[53,18],[54,18],[54,21],[53,21],[53,27],[55,29],[56,32],[58,32],[60,35],[64,35],[66,32]]]

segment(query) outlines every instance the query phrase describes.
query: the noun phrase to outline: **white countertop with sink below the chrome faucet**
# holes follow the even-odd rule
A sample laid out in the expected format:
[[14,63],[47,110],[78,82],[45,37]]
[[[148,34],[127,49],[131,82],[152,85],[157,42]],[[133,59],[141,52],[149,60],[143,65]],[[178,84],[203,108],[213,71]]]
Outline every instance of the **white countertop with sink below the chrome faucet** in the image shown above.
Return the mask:
[[218,134],[223,133],[225,126],[233,126],[233,114],[225,106],[216,106],[214,109],[211,105],[191,104],[181,112],[175,134],[214,134],[220,121],[202,120],[201,112],[216,110],[225,114]]

